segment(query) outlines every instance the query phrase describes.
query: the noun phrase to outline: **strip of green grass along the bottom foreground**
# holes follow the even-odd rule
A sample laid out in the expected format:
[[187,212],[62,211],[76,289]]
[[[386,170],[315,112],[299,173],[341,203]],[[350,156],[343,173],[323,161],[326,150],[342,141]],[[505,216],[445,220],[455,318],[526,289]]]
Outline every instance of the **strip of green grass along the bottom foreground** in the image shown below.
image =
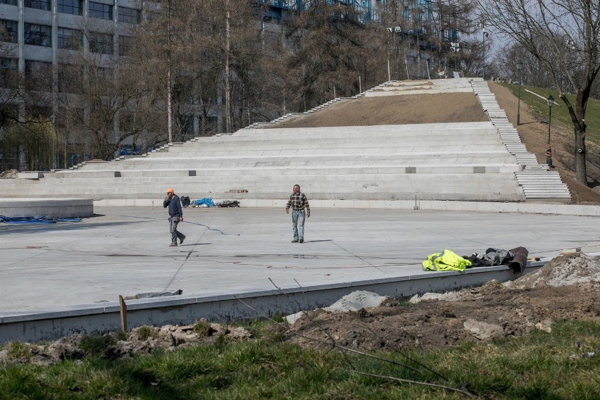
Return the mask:
[[[258,327],[258,325],[261,325]],[[254,323],[256,332],[264,324]],[[598,399],[600,323],[558,323],[551,334],[465,344],[410,355],[399,365],[339,351],[301,349],[269,335],[109,361],[97,357],[49,367],[1,365],[0,399],[464,399],[457,392],[358,375],[359,370],[470,390],[488,399]],[[577,349],[575,342],[581,342]],[[571,354],[577,354],[570,358]],[[380,354],[406,363],[395,353]]]

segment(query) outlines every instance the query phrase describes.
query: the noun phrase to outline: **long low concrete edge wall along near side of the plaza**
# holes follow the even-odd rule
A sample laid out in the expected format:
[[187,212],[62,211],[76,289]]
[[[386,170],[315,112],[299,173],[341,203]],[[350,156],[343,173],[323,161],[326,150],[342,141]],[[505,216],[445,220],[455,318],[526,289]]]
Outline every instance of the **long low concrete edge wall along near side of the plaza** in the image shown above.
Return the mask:
[[[544,263],[528,264],[527,271],[535,270]],[[437,271],[378,280],[218,296],[140,299],[129,301],[127,304],[127,330],[142,325],[188,325],[200,318],[227,322],[275,313],[289,315],[301,310],[330,306],[342,296],[356,290],[403,298],[425,292],[444,292],[479,286],[492,279],[506,282],[514,279],[514,275],[510,268],[499,265],[470,268],[464,272]],[[116,302],[106,303],[104,306],[73,306],[56,311],[12,315],[5,313],[4,316],[0,316],[0,343],[11,340],[39,342],[75,333],[99,334],[120,329],[120,308]]]

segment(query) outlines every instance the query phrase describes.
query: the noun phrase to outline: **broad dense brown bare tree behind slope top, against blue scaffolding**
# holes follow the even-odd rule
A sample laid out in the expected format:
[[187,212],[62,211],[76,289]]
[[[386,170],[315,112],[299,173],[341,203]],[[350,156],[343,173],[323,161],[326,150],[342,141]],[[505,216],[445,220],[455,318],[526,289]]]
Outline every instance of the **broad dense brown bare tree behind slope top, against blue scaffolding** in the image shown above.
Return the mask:
[[349,96],[361,89],[365,77],[373,84],[383,80],[385,60],[371,49],[381,54],[387,35],[385,28],[372,28],[352,4],[342,1],[311,1],[285,21],[287,70],[298,77],[292,90],[301,93],[293,108],[306,111],[322,103],[331,86],[338,96]]

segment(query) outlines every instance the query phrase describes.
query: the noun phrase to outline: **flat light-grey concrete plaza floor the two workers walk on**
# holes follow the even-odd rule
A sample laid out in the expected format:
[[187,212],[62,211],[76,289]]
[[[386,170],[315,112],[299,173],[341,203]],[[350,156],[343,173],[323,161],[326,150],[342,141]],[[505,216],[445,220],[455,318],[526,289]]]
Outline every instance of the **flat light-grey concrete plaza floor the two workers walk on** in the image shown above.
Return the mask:
[[219,296],[417,276],[428,254],[524,246],[549,259],[600,246],[592,216],[314,208],[293,244],[282,208],[185,208],[169,247],[157,207],[97,207],[80,223],[0,224],[0,317],[148,292]]

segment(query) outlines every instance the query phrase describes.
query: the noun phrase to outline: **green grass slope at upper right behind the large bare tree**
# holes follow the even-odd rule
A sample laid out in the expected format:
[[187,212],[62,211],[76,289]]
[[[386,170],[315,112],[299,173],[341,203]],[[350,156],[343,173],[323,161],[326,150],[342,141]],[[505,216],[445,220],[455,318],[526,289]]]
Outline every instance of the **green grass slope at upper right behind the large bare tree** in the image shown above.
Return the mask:
[[[519,85],[510,85],[510,84],[501,84],[504,87],[507,87],[511,90],[511,92],[518,96]],[[534,92],[535,94],[539,94],[543,97],[543,99],[527,92],[527,90]],[[552,125],[557,125],[560,127],[564,127],[568,130],[568,132],[573,132],[573,122],[571,121],[570,115],[568,113],[568,109],[563,103],[561,99],[558,98],[559,92],[556,90],[544,89],[542,87],[530,87],[521,85],[521,106],[523,104],[527,104],[530,109],[537,115],[540,120],[547,121],[548,120],[548,102],[546,98],[549,95],[554,97],[556,104],[552,106]],[[570,103],[575,108],[575,95],[574,94],[566,94]],[[585,111],[585,123],[587,125],[586,129],[586,139],[589,142],[592,142],[596,146],[600,145],[600,101],[596,99],[589,99],[587,102],[587,108]]]

